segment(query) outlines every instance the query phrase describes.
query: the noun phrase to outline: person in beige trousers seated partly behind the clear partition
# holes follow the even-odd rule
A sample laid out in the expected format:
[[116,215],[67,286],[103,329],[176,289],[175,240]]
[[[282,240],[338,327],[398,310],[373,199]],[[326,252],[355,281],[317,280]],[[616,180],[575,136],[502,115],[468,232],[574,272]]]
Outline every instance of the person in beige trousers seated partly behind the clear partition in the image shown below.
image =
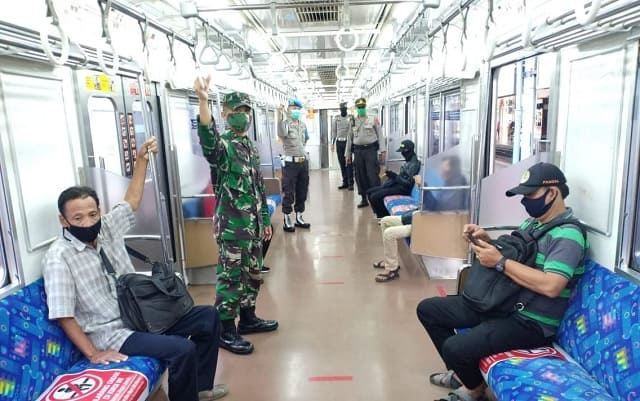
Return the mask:
[[[440,164],[440,177],[445,187],[465,186],[467,179],[462,174],[460,159],[457,156],[449,156],[442,159]],[[422,188],[422,177],[413,177],[418,189]],[[444,189],[434,196],[430,191],[424,192],[422,199],[422,210],[427,211],[447,211],[465,210],[469,204],[469,191],[465,189]],[[400,266],[398,265],[398,241],[411,236],[411,223],[413,215],[417,211],[410,210],[400,216],[386,216],[380,221],[380,231],[382,231],[382,244],[384,250],[384,260],[374,263],[376,269],[385,269],[384,273],[377,274],[376,282],[386,283],[400,277]]]

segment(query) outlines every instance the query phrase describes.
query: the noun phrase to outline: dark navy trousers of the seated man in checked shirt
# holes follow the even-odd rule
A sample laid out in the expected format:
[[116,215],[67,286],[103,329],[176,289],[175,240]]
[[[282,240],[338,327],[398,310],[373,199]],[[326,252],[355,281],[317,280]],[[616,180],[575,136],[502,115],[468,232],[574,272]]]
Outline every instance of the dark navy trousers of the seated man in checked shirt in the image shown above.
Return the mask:
[[169,400],[198,401],[199,391],[213,388],[219,331],[216,308],[194,306],[164,334],[133,333],[120,352],[165,363],[169,369]]

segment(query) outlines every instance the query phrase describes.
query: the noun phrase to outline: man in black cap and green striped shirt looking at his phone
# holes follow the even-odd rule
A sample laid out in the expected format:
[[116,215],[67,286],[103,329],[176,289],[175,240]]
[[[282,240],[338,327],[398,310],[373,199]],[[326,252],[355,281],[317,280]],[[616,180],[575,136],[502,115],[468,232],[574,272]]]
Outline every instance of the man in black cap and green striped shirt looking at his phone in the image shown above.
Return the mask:
[[[535,232],[547,223],[572,216],[564,202],[569,195],[566,182],[553,164],[538,163],[525,171],[520,184],[506,192],[507,196],[522,195],[521,203],[531,216],[521,230]],[[586,239],[574,224],[555,227],[538,240],[535,266],[503,257],[477,225],[465,225],[465,239],[467,235],[477,243],[471,244],[471,249],[482,266],[505,274],[533,292],[533,298],[506,316],[477,312],[459,295],[420,302],[418,319],[449,369],[430,376],[431,383],[454,389],[446,401],[483,399],[486,384],[478,369],[482,358],[551,344],[571,290],[584,272]],[[461,327],[470,329],[455,334]]]

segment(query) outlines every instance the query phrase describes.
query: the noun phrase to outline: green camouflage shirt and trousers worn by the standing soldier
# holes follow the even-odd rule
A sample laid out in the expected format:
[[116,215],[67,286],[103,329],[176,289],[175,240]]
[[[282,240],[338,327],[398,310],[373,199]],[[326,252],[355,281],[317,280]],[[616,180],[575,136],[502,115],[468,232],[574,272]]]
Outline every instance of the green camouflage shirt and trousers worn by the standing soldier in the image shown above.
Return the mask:
[[[262,242],[271,225],[258,150],[247,136],[219,134],[212,121],[199,124],[203,154],[211,167],[217,199],[213,218],[219,264],[216,306],[220,319],[255,307],[262,277]],[[214,178],[215,177],[215,178]]]

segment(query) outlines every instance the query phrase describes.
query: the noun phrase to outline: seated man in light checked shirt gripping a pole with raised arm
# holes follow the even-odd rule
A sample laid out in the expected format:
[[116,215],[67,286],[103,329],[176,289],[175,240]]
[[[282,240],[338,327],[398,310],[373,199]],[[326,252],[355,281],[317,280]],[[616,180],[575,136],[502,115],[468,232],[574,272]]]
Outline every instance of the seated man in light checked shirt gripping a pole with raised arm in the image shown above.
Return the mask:
[[213,386],[220,330],[217,310],[194,306],[164,334],[134,332],[124,326],[116,280],[103,266],[104,255],[118,275],[135,272],[124,235],[133,227],[133,212],[142,200],[149,152],[157,151],[155,138],[138,149],[124,201],[105,215],[89,187],[71,187],[60,194],[62,236],[43,260],[49,318],[91,363],[122,362],[129,355],[156,358],[169,369],[170,401],[215,400],[227,393],[226,386]]

